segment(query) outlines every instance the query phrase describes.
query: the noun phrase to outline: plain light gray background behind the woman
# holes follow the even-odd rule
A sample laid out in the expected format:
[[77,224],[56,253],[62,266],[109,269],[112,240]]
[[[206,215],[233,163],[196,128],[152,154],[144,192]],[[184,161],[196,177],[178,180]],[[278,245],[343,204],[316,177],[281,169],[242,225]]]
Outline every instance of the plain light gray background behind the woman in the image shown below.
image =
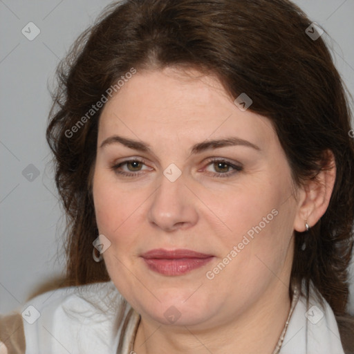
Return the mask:
[[[47,86],[68,47],[110,2],[0,0],[0,313],[19,308],[39,283],[64,269],[65,218],[45,140]],[[353,95],[354,0],[295,3],[330,35],[323,36]],[[32,41],[21,33],[30,21],[41,31]],[[354,277],[351,282],[354,313]]]

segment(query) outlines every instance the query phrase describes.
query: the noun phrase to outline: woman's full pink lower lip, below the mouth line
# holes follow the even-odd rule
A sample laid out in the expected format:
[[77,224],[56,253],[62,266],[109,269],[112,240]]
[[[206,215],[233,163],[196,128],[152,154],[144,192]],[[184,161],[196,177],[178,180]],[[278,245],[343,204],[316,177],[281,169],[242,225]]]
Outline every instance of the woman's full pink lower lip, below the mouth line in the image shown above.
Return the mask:
[[147,266],[154,272],[164,275],[183,275],[191,270],[201,268],[214,257],[207,258],[183,258],[183,259],[145,259]]

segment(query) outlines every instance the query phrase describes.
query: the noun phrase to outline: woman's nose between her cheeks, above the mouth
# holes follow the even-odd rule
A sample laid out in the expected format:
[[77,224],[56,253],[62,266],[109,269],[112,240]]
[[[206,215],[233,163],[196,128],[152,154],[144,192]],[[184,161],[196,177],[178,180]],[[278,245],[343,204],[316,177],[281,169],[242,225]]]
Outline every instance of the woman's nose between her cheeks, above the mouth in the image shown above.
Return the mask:
[[174,182],[162,175],[160,187],[152,196],[149,222],[168,232],[195,225],[198,221],[196,196],[190,189],[185,185],[183,175]]

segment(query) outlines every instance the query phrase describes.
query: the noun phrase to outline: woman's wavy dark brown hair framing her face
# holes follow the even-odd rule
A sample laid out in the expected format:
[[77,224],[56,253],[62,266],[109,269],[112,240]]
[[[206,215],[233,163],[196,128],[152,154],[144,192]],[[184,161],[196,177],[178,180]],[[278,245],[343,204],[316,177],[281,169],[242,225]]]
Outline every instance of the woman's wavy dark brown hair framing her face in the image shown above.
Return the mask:
[[102,108],[73,127],[132,67],[193,67],[216,75],[231,97],[252,98],[250,110],[272,122],[297,186],[330,168],[326,151],[333,151],[333,194],[310,234],[295,231],[291,283],[313,281],[335,314],[345,313],[354,221],[350,109],[322,37],[306,34],[310,24],[287,0],[127,0],[106,8],[75,41],[58,68],[46,132],[67,216],[68,284],[109,280],[104,263],[92,258]]

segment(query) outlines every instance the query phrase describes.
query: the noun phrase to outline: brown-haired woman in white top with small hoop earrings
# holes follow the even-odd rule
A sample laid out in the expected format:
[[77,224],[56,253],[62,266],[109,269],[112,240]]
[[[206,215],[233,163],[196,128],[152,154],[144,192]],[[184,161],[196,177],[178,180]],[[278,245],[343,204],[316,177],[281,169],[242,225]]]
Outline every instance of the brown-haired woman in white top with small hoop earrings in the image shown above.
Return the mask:
[[287,0],[107,8],[47,129],[67,281],[2,319],[9,353],[353,353],[354,143],[320,35]]

